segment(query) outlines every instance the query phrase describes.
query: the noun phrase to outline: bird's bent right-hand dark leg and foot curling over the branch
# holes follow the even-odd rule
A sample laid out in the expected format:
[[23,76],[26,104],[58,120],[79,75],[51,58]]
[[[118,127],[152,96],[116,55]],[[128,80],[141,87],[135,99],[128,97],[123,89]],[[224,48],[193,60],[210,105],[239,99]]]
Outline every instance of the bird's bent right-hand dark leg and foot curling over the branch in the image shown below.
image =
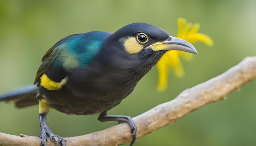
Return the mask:
[[104,111],[99,115],[98,120],[100,122],[106,122],[106,121],[126,122],[127,124],[129,124],[129,126],[131,128],[131,133],[132,133],[131,136],[133,136],[130,146],[132,146],[134,144],[134,142],[136,140],[137,126],[135,125],[135,123],[133,122],[131,117],[126,116],[126,115],[107,115],[107,111]]

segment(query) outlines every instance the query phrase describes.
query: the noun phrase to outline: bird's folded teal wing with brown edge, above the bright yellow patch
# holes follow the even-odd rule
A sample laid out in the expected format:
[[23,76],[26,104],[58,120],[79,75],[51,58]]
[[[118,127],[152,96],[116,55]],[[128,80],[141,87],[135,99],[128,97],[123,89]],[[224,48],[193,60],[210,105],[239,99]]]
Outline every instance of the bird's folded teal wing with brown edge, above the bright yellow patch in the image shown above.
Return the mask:
[[38,69],[34,83],[38,82],[45,72],[50,79],[58,82],[65,77],[65,71],[77,67],[84,68],[92,61],[110,34],[92,31],[61,39],[43,56],[43,63]]

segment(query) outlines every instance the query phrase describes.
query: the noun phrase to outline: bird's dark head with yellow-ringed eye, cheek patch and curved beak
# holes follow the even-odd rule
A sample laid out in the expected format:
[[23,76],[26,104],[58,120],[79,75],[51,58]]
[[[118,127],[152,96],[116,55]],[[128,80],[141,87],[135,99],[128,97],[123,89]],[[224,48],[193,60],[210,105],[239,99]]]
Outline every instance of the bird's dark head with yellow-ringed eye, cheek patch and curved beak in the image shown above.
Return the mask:
[[128,54],[139,55],[141,58],[147,58],[156,52],[163,55],[168,50],[198,54],[189,42],[172,37],[163,29],[146,23],[124,26],[110,35],[108,42],[116,42],[114,45],[121,44],[118,48],[124,49]]

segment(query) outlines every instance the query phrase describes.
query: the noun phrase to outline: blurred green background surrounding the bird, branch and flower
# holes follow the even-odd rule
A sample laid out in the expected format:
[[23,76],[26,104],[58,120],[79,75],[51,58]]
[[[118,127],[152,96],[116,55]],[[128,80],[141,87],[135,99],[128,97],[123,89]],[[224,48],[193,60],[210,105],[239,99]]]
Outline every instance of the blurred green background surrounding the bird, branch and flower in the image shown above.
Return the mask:
[[[195,44],[199,55],[190,62],[183,61],[185,77],[176,78],[171,72],[169,86],[163,93],[156,90],[154,67],[109,114],[137,116],[172,100],[184,89],[223,73],[246,56],[256,55],[255,0],[1,0],[0,93],[33,84],[44,53],[67,35],[88,31],[114,33],[126,24],[145,22],[175,36],[179,17],[199,22],[199,32],[209,35],[214,45]],[[227,95],[227,100],[204,106],[138,139],[135,146],[255,146],[255,104],[253,81]],[[18,109],[12,102],[0,102],[2,133],[38,136],[38,117],[38,106]],[[47,121],[52,131],[63,137],[117,124],[100,123],[97,117],[53,110]]]

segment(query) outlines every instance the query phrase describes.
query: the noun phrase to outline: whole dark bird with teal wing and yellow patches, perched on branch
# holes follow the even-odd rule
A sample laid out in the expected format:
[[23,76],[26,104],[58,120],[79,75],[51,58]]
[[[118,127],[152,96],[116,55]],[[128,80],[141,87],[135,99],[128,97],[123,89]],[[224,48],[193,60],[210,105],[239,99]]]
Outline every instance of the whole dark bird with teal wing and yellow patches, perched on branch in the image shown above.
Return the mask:
[[127,123],[132,146],[136,140],[135,122],[130,116],[108,115],[107,111],[126,98],[162,55],[171,50],[198,54],[189,42],[140,22],[115,33],[69,35],[45,53],[34,84],[0,95],[0,101],[14,100],[17,107],[39,104],[40,146],[47,146],[47,137],[66,145],[66,140],[47,125],[46,116],[52,108],[66,114],[99,114],[100,122]]

